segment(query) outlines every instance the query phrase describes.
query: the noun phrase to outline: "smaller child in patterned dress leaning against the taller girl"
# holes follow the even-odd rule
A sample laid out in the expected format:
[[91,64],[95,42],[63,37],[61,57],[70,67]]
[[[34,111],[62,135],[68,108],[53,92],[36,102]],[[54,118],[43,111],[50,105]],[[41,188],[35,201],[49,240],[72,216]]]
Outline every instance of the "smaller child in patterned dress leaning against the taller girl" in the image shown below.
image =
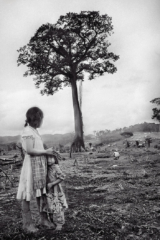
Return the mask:
[[62,173],[57,157],[48,157],[47,160],[47,198],[43,211],[46,211],[56,230],[61,230],[65,223],[64,211],[68,208],[65,194],[60,182],[65,176]]

